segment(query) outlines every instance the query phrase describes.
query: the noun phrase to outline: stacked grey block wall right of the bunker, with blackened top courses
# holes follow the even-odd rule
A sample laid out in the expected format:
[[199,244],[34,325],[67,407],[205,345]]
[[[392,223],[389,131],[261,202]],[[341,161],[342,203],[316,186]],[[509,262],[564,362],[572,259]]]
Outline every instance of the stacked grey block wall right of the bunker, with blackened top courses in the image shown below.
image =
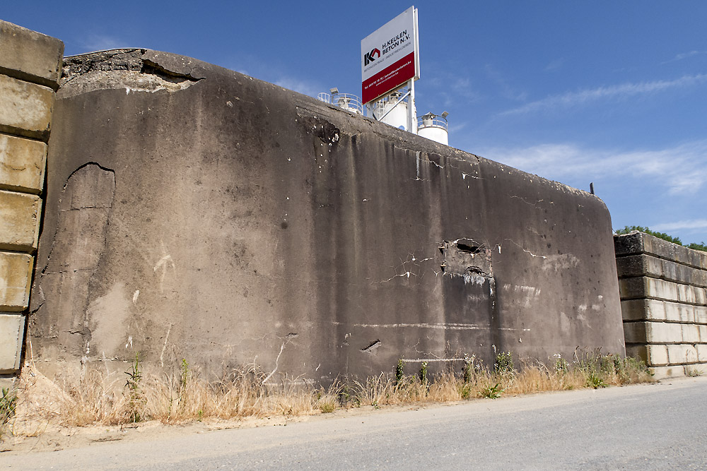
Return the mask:
[[658,378],[707,371],[707,253],[642,232],[614,244],[627,354]]

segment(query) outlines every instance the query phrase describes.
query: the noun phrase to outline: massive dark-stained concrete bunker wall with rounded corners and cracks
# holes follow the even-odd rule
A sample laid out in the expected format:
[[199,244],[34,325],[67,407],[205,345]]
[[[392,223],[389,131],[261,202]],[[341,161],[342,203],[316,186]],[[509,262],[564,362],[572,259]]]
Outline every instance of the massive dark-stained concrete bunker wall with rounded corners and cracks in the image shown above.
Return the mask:
[[139,351],[328,381],[624,352],[595,196],[173,54],[78,56],[62,83],[29,328],[45,369]]

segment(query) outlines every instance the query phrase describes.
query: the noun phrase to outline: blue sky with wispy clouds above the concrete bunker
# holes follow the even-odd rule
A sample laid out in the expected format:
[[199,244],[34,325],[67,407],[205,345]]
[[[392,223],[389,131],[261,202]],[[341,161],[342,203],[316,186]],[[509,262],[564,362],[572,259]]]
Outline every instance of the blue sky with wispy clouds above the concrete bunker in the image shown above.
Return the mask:
[[[418,113],[450,145],[580,189],[615,228],[707,242],[707,2],[418,1]],[[361,94],[361,39],[409,1],[4,2],[66,54],[146,47]]]

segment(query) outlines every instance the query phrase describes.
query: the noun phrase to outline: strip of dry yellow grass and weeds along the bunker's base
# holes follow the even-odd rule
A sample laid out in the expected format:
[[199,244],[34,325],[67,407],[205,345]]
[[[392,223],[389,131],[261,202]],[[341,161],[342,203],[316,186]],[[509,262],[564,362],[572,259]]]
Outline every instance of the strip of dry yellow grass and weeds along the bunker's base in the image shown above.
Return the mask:
[[[266,375],[247,366],[216,383],[199,378],[182,361],[172,371],[145,374],[139,359],[127,372],[85,366],[74,375],[53,383],[36,369],[25,367],[18,390],[17,425],[45,421],[67,427],[90,424],[116,425],[145,420],[164,424],[202,419],[303,416],[359,406],[450,402],[472,398],[497,398],[541,391],[604,387],[653,381],[642,362],[599,352],[575,354],[573,362],[552,359],[525,360],[514,369],[510,354],[493,371],[469,358],[462,371],[447,370],[421,379],[402,374],[341,379],[329,388],[315,388],[292,378],[264,385]],[[510,361],[510,365],[508,364]],[[38,388],[37,384],[44,385]],[[37,393],[41,390],[41,393]],[[30,417],[31,416],[31,417]],[[35,425],[36,427],[36,425]],[[30,434],[25,427],[16,433]]]

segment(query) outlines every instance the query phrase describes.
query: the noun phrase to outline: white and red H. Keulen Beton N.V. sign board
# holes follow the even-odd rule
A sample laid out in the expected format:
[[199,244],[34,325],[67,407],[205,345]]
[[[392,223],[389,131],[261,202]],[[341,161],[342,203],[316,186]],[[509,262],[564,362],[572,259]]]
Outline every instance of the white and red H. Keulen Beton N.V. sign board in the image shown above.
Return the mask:
[[361,41],[361,95],[368,103],[420,78],[417,8],[411,6]]

